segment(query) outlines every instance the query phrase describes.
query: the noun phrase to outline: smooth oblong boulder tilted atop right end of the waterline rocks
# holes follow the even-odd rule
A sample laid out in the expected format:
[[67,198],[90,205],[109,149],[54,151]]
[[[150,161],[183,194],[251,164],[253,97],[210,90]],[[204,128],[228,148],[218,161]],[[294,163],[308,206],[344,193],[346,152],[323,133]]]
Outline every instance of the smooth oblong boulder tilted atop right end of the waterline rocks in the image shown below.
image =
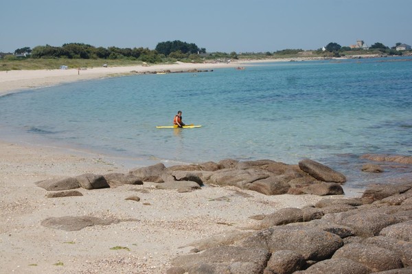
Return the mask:
[[320,181],[332,183],[345,183],[346,181],[346,177],[343,174],[310,159],[299,161],[299,168]]

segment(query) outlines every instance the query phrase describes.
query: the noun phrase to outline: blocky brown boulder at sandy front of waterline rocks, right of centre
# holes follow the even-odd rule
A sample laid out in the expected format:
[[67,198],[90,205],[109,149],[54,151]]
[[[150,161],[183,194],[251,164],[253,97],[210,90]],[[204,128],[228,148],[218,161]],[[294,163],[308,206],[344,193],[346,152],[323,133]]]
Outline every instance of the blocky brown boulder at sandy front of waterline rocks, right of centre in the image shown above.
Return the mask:
[[249,190],[265,195],[279,195],[288,193],[289,187],[288,178],[284,175],[280,175],[254,181],[249,185]]

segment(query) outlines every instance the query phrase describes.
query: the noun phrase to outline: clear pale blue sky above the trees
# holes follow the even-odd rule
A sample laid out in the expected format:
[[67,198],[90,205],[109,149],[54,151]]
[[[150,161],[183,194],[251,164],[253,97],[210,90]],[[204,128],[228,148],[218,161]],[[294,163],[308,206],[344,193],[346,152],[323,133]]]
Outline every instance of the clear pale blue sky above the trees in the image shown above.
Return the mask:
[[0,52],[86,43],[148,47],[181,40],[207,52],[412,45],[412,0],[3,0]]

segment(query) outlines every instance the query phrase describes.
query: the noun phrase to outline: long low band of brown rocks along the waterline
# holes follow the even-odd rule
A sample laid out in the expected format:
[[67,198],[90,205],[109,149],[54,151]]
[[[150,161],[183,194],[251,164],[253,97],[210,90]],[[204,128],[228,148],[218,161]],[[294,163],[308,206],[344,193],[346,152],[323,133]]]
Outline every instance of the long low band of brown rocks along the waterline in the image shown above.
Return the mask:
[[[166,168],[163,163],[135,168],[128,174],[82,174],[64,179],[39,181],[45,190],[87,190],[117,187],[123,184],[159,183],[158,188],[180,191],[200,189],[204,184],[232,185],[244,190],[254,190],[266,195],[277,194],[343,194],[341,183],[345,176],[327,166],[304,159],[299,165],[288,165],[271,160],[236,161],[225,159],[218,163],[174,165]],[[52,193],[49,196],[81,195],[80,192]]]

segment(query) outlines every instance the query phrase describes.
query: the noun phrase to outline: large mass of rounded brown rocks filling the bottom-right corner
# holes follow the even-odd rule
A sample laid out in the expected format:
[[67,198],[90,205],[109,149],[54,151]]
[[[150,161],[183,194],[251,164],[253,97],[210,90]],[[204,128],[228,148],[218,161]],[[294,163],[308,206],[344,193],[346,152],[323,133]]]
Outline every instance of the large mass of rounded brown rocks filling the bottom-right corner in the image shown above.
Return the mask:
[[255,233],[194,242],[168,274],[412,273],[412,182],[253,218]]

